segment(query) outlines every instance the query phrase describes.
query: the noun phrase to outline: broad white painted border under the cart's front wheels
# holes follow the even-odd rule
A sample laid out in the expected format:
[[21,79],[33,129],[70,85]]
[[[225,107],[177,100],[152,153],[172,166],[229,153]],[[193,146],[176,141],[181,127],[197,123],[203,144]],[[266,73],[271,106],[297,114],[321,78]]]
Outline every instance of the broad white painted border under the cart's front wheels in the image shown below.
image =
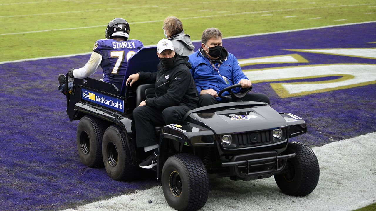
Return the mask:
[[[374,139],[376,132],[312,148],[320,165],[320,179],[308,196],[281,193],[273,177],[254,181],[220,178],[210,181],[209,197],[200,211],[351,211],[367,206],[376,199]],[[77,210],[174,211],[166,202],[161,185],[64,211]]]

